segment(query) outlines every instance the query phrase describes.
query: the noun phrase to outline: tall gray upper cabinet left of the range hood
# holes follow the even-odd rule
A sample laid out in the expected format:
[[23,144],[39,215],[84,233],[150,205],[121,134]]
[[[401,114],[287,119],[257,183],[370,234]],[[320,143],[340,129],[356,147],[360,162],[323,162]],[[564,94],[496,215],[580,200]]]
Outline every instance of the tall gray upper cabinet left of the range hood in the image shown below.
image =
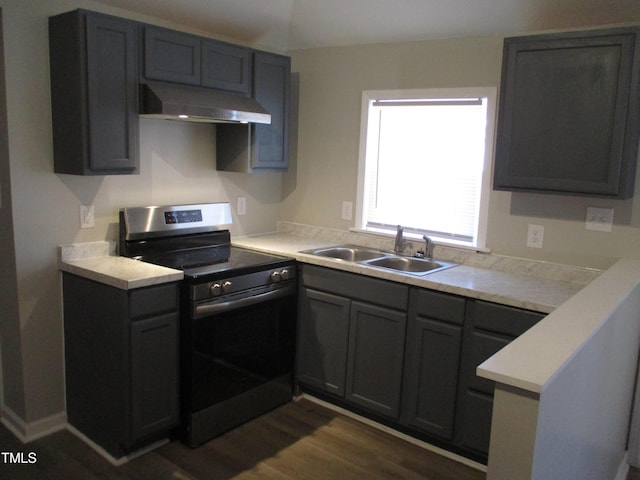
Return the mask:
[[138,169],[137,24],[76,10],[49,19],[54,171]]

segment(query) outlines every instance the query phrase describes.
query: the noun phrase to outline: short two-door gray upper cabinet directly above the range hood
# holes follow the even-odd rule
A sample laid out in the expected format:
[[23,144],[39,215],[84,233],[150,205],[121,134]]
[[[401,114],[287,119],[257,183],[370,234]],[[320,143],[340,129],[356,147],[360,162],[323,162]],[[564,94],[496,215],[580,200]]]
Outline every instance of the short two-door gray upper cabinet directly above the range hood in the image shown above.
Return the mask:
[[144,78],[251,94],[251,49],[153,26],[143,38]]

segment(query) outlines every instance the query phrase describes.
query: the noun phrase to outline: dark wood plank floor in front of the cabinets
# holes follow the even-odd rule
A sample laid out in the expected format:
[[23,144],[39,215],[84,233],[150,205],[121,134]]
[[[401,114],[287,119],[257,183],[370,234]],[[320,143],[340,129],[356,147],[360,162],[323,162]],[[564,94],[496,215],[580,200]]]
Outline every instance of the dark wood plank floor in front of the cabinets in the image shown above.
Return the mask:
[[22,445],[0,426],[0,451],[35,452],[33,464],[0,458],[0,479],[484,480],[485,474],[300,400],[197,449],[172,442],[114,467],[67,431]]

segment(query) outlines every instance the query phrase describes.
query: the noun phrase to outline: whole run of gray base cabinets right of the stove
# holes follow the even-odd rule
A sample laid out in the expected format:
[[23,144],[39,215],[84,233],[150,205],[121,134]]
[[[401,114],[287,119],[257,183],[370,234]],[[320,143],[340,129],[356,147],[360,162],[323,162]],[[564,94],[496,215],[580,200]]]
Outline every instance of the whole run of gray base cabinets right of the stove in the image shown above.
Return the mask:
[[486,461],[494,383],[476,368],[544,314],[313,265],[300,278],[299,390]]

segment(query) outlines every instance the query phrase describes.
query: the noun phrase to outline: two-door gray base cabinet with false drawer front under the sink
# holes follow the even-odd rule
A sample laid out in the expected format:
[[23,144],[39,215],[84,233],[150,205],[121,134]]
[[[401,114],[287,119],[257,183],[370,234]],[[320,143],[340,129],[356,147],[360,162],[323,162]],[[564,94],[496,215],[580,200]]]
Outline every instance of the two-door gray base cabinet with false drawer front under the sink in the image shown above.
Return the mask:
[[398,419],[408,287],[303,265],[297,381]]

